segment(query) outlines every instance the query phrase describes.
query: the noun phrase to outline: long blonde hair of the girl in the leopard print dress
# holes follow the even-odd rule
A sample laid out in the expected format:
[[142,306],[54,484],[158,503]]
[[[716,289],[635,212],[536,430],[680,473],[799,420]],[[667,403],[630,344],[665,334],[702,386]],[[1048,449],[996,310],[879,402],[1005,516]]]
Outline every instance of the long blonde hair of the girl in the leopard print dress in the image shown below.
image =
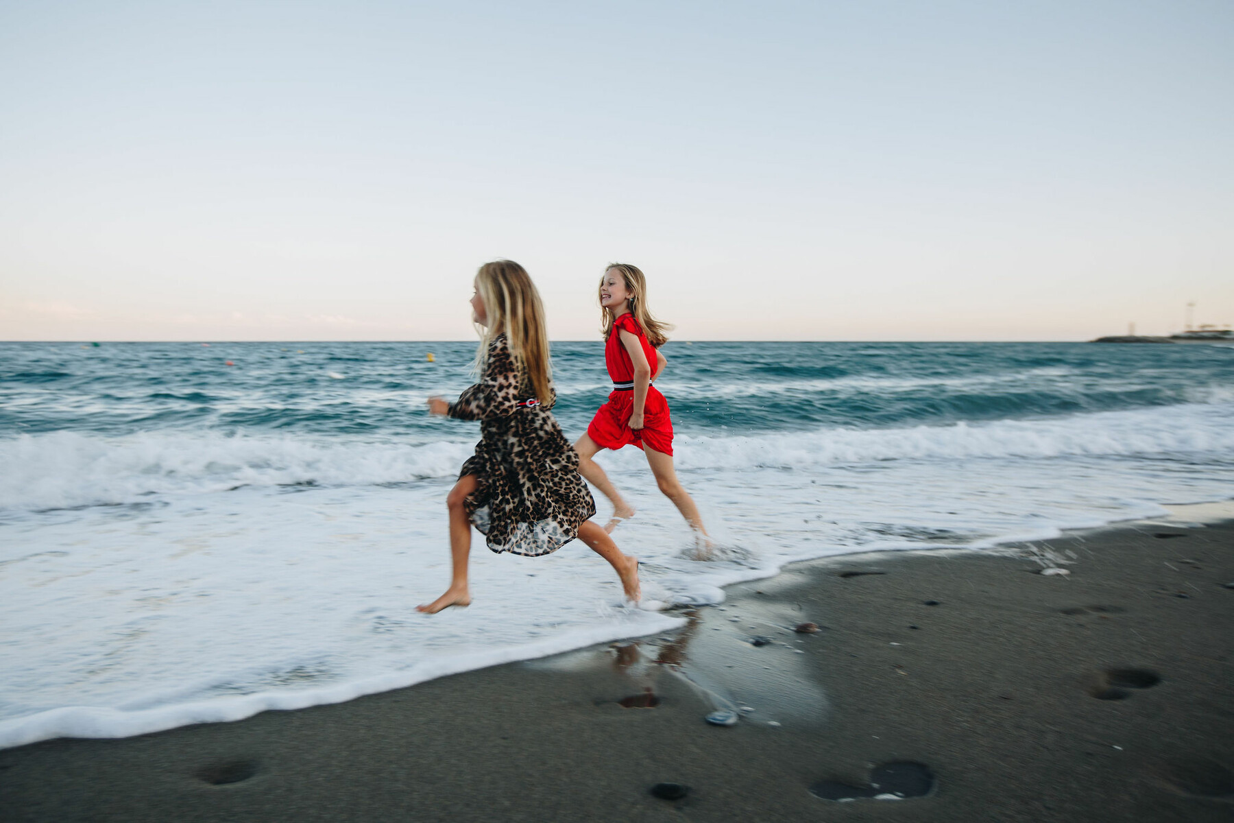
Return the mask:
[[487,316],[487,326],[476,327],[480,334],[476,369],[484,371],[489,344],[505,333],[515,365],[531,379],[540,405],[552,408],[553,360],[544,327],[544,305],[527,269],[513,260],[485,263],[475,273],[475,287]]

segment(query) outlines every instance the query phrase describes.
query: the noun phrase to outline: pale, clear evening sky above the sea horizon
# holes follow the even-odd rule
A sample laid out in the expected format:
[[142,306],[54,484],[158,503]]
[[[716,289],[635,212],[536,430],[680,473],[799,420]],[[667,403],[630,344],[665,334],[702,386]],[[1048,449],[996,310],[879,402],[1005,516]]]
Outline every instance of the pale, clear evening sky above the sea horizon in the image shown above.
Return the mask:
[[1234,2],[0,0],[0,339],[1234,321]]

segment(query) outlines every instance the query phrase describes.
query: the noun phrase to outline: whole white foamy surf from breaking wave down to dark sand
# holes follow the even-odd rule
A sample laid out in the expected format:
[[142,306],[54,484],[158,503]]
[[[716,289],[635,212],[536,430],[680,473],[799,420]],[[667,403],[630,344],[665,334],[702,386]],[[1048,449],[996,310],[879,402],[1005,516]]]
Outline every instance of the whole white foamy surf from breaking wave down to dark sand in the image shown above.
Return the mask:
[[[676,624],[621,608],[616,575],[578,542],[524,559],[478,540],[474,605],[415,612],[448,581],[443,501],[473,437],[0,443],[0,746],[336,702]],[[797,559],[1046,539],[1229,497],[1234,410],[681,437],[676,453],[739,550],[685,559],[690,533],[633,449],[600,457],[639,510],[615,537],[648,598],[707,603]],[[94,502],[139,505],[35,511]]]

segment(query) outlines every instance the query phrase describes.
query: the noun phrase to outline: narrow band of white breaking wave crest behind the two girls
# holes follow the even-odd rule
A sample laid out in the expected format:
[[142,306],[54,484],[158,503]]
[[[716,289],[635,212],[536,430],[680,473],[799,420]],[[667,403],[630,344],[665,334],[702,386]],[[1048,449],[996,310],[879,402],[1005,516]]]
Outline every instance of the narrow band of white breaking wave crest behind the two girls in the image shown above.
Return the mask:
[[[1044,420],[884,429],[821,429],[743,437],[680,436],[677,466],[823,468],[930,458],[1177,455],[1234,450],[1228,405],[1190,403]],[[371,485],[449,478],[474,433],[432,443],[315,440],[305,436],[73,432],[0,440],[0,510],[139,502],[241,485]],[[634,466],[632,449],[617,457]]]

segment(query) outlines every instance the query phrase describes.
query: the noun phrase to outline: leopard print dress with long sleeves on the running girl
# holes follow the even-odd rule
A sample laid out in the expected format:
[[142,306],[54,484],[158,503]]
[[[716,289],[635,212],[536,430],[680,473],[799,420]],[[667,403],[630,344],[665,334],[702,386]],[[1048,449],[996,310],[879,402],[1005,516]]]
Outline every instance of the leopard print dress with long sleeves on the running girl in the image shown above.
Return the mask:
[[579,474],[579,454],[552,412],[522,401],[536,396],[520,374],[505,334],[489,344],[482,380],[450,403],[449,416],[480,421],[475,454],[459,476],[475,475],[464,506],[499,554],[549,554],[579,536],[596,501]]

